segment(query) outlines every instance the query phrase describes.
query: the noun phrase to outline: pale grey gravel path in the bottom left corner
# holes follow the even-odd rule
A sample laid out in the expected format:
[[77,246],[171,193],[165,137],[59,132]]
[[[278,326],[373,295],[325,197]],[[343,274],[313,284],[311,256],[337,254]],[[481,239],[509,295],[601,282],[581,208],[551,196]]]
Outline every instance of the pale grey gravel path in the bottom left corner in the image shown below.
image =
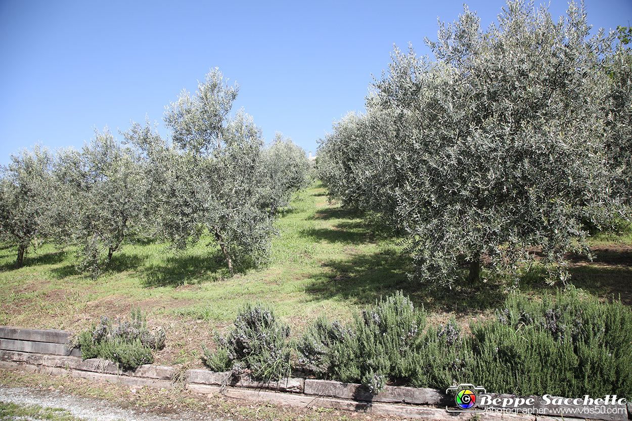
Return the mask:
[[40,405],[49,408],[62,408],[73,416],[95,421],[171,421],[204,420],[226,421],[228,418],[209,413],[182,412],[167,415],[143,413],[140,410],[120,408],[108,401],[80,398],[60,391],[41,391],[28,387],[0,386],[0,401],[18,405]]

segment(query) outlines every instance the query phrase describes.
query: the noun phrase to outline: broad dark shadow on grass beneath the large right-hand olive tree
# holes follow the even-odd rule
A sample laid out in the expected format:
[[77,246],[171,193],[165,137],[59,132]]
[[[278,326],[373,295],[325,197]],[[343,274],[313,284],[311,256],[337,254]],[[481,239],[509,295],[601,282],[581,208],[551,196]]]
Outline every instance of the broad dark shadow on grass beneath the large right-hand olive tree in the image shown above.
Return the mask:
[[329,260],[322,265],[331,272],[312,276],[305,288],[313,300],[339,298],[372,305],[401,290],[415,307],[428,312],[471,314],[497,308],[506,298],[501,285],[493,282],[457,283],[449,290],[410,279],[411,259],[397,250],[355,255],[346,261]]

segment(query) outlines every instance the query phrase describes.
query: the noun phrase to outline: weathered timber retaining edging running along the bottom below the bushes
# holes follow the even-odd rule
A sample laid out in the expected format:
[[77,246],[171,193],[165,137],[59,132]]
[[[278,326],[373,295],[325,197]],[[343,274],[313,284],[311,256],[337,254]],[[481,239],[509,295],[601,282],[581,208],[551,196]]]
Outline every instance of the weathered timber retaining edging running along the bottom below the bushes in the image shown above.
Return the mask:
[[[269,401],[279,405],[314,406],[374,413],[398,415],[408,418],[434,420],[470,420],[472,413],[448,413],[446,406],[454,406],[452,397],[437,389],[386,386],[377,395],[369,393],[360,384],[289,377],[276,382],[255,381],[248,376],[234,377],[230,372],[212,372],[204,369],[183,372],[176,367],[142,365],[135,370],[124,371],[110,361],[101,358],[82,360],[81,350],[70,345],[71,333],[58,330],[20,329],[0,326],[0,369],[21,369],[50,375],[69,375],[90,381],[123,382],[134,386],[171,389],[176,381],[184,380],[185,386],[196,393],[222,393],[229,398],[250,401]],[[492,399],[514,399],[509,394],[492,394]],[[534,405],[516,406],[523,413],[478,413],[482,420],[499,421],[553,421],[557,417],[542,415],[561,409],[556,405],[542,405],[538,396],[532,396]],[[423,406],[432,405],[432,406]],[[439,406],[437,408],[437,406]],[[583,408],[583,413],[566,412],[564,417],[588,418],[607,421],[632,419],[632,403],[627,411],[602,413],[603,406],[566,406]],[[626,413],[627,412],[627,413]]]

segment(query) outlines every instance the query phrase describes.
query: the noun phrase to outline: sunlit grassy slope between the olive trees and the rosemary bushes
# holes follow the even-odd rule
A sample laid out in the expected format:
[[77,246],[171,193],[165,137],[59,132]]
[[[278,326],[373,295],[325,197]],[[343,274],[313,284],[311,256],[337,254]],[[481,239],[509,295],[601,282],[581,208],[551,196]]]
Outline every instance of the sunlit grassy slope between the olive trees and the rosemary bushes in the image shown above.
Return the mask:
[[[73,250],[44,245],[30,250],[24,267],[15,270],[16,250],[5,245],[0,247],[0,324],[78,332],[100,315],[123,319],[139,306],[150,328],[166,330],[167,346],[156,354],[156,363],[201,367],[200,343],[212,343],[214,331],[225,333],[238,311],[256,300],[273,307],[298,336],[319,315],[349,320],[398,290],[430,312],[430,324],[456,317],[464,326],[490,317],[511,293],[506,281],[493,277],[452,290],[409,281],[411,261],[401,238],[330,204],[321,185],[298,193],[277,229],[269,265],[233,277],[219,247],[207,246],[208,239],[178,253],[156,241],[127,244],[96,281],[75,271]],[[595,235],[593,241],[597,259],[574,259],[572,283],[593,295],[621,296],[630,305],[632,229]],[[537,270],[523,276],[520,288],[533,296],[556,291]]]

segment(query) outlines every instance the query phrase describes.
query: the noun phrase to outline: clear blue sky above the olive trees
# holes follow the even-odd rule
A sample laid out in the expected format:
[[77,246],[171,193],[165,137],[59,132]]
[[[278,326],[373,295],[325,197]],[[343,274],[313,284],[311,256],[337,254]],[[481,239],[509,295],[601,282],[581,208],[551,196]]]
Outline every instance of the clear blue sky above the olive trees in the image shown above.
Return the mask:
[[[485,28],[505,3],[467,4]],[[567,6],[550,1],[554,20]],[[585,7],[592,32],[632,21],[632,0]],[[437,18],[461,11],[461,0],[0,0],[0,164],[38,142],[80,149],[94,128],[146,115],[166,135],[164,107],[214,67],[240,85],[233,113],[315,152],[334,120],[362,111],[394,44],[428,54]]]

